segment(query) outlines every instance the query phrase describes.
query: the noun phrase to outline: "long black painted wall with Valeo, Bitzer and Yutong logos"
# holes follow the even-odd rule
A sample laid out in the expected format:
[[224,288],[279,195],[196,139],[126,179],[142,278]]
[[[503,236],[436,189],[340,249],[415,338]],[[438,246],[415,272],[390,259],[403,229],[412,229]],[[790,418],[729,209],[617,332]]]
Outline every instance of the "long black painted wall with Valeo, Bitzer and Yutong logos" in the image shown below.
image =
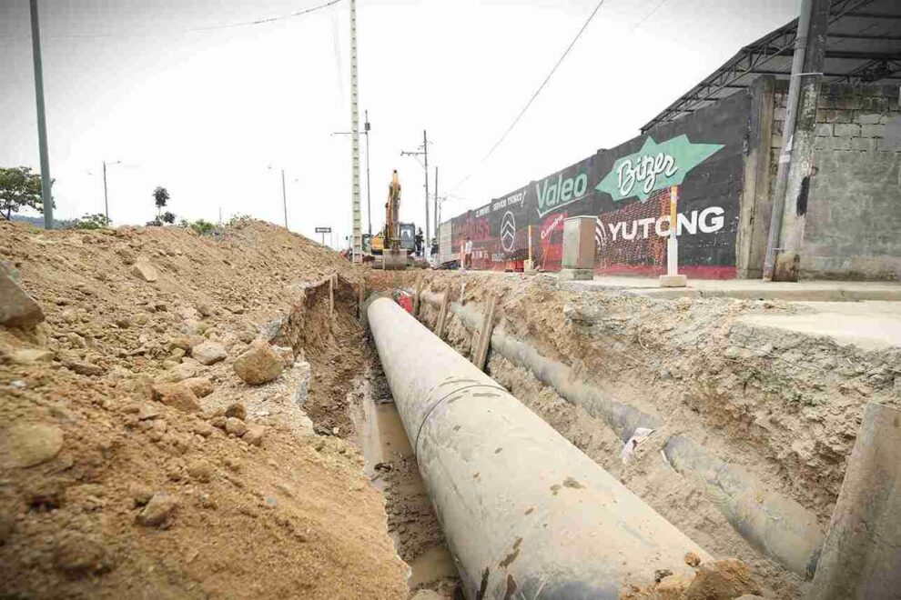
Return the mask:
[[[563,221],[593,215],[595,271],[666,272],[666,237],[679,235],[681,272],[734,277],[750,100],[736,94],[647,135],[532,181],[448,222],[450,252],[472,241],[475,268],[521,270],[529,257],[545,271],[560,269]],[[677,186],[676,223],[670,188]],[[531,239],[529,232],[531,231]]]

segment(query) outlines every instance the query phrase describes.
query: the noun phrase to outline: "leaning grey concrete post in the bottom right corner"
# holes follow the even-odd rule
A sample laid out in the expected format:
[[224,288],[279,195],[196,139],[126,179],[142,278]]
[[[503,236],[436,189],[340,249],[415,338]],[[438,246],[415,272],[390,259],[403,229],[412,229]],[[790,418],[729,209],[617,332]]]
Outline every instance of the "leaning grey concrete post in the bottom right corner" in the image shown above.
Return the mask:
[[870,403],[845,470],[808,600],[901,594],[901,411]]

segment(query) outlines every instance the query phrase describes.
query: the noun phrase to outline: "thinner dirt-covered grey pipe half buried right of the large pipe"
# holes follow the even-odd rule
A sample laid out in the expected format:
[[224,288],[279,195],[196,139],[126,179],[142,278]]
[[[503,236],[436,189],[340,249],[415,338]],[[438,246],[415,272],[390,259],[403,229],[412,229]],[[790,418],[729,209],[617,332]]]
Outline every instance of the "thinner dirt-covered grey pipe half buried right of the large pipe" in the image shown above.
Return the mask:
[[[440,301],[439,295],[426,293],[422,297],[430,304]],[[481,319],[479,311],[459,303],[451,303],[450,312],[471,331]],[[601,418],[623,442],[637,427],[659,429],[663,425],[656,415],[602,394],[577,378],[572,367],[543,356],[498,328],[491,335],[491,349],[512,364],[529,369],[567,402]],[[813,577],[824,534],[811,511],[791,498],[764,491],[753,476],[708,454],[682,435],[668,438],[663,452],[679,473],[704,485],[707,496],[739,535],[787,569],[807,579]]]

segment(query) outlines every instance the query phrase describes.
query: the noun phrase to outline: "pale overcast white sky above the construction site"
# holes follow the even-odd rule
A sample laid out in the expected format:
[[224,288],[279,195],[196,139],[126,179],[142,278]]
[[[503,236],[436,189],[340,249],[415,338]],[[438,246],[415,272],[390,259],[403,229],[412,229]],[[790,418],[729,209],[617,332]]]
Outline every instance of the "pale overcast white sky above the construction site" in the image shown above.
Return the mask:
[[[155,215],[169,190],[188,219],[249,214],[313,236],[349,233],[348,3],[325,0],[41,0],[56,214]],[[372,225],[391,170],[400,216],[424,223],[423,172],[401,150],[430,141],[443,216],[482,205],[638,134],[742,46],[794,18],[796,0],[606,0],[551,82],[541,84],[595,0],[358,0],[359,115],[368,109]],[[261,25],[208,29],[285,17]],[[188,29],[204,28],[200,31]],[[39,170],[28,0],[0,0],[0,165]],[[360,136],[363,230],[365,138]],[[271,165],[271,168],[268,168]],[[454,186],[467,175],[463,185]],[[317,236],[318,237],[318,236]],[[327,242],[329,240],[327,239]]]

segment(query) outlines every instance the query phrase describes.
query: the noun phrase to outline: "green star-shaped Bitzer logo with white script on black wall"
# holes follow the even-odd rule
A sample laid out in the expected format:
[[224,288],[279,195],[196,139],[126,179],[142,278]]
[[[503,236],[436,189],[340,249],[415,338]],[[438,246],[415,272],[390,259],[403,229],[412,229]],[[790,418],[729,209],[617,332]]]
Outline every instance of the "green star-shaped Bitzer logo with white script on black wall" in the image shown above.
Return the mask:
[[656,190],[681,185],[689,171],[722,147],[722,144],[692,144],[687,135],[657,144],[649,136],[641,150],[616,159],[610,173],[594,189],[611,195],[614,202],[633,196],[643,202]]

